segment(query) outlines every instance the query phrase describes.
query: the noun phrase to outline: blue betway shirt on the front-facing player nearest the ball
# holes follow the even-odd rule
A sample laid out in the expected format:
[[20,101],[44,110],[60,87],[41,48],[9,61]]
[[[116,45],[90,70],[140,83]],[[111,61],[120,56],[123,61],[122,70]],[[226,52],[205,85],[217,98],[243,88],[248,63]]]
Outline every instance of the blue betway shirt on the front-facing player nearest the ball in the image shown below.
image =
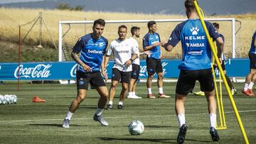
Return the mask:
[[[88,65],[92,72],[100,71],[103,55],[106,53],[108,41],[101,36],[95,40],[92,33],[82,36],[75,44],[73,51],[80,52],[80,60]],[[78,71],[85,72],[81,65],[78,65]]]

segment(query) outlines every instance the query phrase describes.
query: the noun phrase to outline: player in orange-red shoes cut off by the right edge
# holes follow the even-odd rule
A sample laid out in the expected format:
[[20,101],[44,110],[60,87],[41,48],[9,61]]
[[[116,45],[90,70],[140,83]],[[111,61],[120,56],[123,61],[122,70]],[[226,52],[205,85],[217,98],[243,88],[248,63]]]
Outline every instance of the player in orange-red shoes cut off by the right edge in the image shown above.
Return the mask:
[[252,89],[253,84],[256,82],[256,31],[252,35],[252,43],[248,56],[250,58],[250,72],[245,78],[245,87],[242,89],[242,93],[252,97],[255,96]]

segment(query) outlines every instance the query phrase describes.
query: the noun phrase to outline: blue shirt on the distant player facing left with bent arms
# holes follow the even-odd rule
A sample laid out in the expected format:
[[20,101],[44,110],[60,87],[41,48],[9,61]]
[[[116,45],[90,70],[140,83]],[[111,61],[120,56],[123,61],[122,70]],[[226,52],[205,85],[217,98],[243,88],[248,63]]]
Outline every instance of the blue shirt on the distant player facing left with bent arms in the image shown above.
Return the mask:
[[[161,42],[160,36],[158,33],[153,33],[153,34],[146,33],[146,35],[143,38],[143,48],[158,42]],[[151,55],[148,55],[148,57],[153,57],[154,59],[160,59],[160,55],[161,55],[160,45],[154,46],[154,48],[152,48],[149,51],[151,52]]]

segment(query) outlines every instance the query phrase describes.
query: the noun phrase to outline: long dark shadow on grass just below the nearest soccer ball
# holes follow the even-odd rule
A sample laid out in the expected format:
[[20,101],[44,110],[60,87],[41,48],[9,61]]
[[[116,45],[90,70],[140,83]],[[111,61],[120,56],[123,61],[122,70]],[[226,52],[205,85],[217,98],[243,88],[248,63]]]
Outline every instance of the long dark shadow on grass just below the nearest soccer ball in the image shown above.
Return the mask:
[[[152,143],[176,143],[174,139],[167,139],[167,138],[159,138],[159,139],[150,139],[150,138],[99,138],[100,140],[125,140],[125,141],[141,141],[141,142],[152,142]],[[170,142],[170,140],[174,140],[175,142]]]

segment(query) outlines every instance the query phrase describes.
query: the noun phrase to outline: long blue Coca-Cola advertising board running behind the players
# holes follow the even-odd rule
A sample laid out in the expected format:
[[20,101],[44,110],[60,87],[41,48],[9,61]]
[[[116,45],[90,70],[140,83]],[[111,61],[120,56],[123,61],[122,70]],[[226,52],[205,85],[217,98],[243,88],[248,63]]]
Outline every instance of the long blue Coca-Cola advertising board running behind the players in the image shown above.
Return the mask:
[[[164,77],[177,78],[180,70],[178,65],[181,60],[161,60]],[[107,65],[108,77],[112,76],[112,66],[110,61]],[[21,80],[54,80],[54,79],[75,79],[77,64],[75,62],[26,62],[21,63],[19,74]],[[146,62],[141,60],[139,78],[146,78]],[[225,61],[225,68],[229,77],[245,77],[250,70],[248,59],[228,59]],[[215,70],[218,75],[218,70]],[[156,74],[154,75],[156,77]],[[0,63],[0,80],[17,80],[18,63]]]

